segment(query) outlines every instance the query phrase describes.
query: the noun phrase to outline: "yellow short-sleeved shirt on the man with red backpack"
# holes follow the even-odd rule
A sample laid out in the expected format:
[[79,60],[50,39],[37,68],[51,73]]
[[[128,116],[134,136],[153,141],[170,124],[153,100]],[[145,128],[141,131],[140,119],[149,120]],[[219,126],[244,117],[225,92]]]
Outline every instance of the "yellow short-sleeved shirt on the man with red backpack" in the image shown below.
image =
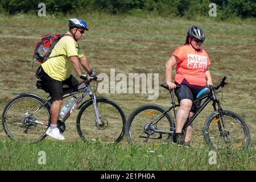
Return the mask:
[[[68,32],[67,34],[70,33]],[[73,69],[72,62],[69,59],[70,56],[81,58],[84,56],[84,52],[71,36],[64,36],[52,49],[51,55],[49,55],[50,58],[42,64],[44,72],[54,80],[67,80],[71,76]]]

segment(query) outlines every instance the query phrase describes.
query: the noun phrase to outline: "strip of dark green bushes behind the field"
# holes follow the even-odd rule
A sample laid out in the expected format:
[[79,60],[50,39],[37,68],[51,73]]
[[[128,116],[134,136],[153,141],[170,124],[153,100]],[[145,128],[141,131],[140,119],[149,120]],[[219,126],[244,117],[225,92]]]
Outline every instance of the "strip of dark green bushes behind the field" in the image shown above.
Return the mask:
[[[10,14],[38,12],[40,0],[16,1],[2,0],[0,10]],[[48,13],[92,13],[104,12],[110,14],[148,14],[175,15],[192,18],[194,16],[208,16],[209,4],[216,3],[218,18],[256,17],[256,3],[254,0],[47,0],[44,1]],[[211,7],[211,6],[210,6]]]

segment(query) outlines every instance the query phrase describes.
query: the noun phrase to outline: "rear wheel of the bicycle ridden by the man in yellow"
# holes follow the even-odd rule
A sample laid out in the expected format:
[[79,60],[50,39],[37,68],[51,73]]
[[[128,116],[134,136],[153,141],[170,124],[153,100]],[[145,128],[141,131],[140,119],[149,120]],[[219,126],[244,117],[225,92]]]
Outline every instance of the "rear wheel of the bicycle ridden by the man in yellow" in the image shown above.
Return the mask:
[[20,95],[7,104],[2,114],[5,133],[14,140],[38,142],[46,137],[50,122],[48,106],[35,96]]

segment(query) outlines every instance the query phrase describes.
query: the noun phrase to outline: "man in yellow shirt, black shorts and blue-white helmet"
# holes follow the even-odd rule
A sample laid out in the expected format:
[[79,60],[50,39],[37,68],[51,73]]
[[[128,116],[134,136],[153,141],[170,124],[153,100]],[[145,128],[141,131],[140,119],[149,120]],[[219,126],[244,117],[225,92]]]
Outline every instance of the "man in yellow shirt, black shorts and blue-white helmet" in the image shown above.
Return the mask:
[[77,43],[84,35],[84,31],[88,31],[86,23],[75,18],[68,21],[69,31],[57,42],[51,55],[49,55],[49,59],[42,64],[40,73],[40,78],[46,83],[53,100],[50,109],[51,125],[46,134],[58,140],[64,140],[57,128],[57,119],[63,102],[63,84],[68,85],[73,90],[77,90],[79,81],[71,73],[74,68],[77,75],[85,80],[86,75],[82,74],[80,64],[88,72],[89,76],[94,77],[97,74],[90,68],[84,52]]

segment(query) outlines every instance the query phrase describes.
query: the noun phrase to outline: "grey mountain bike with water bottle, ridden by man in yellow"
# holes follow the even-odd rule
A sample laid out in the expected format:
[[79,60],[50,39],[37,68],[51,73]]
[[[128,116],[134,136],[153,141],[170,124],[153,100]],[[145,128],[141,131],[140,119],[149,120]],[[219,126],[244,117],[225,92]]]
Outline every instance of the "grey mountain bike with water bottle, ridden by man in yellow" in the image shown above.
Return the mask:
[[[65,131],[65,121],[73,110],[79,109],[76,119],[76,128],[84,142],[100,141],[104,143],[117,143],[123,138],[125,131],[125,114],[121,107],[106,97],[96,97],[91,89],[90,82],[97,80],[91,77],[89,81],[79,84],[79,90],[68,93],[63,98],[81,94],[68,110],[67,114],[57,121],[60,133]],[[45,91],[41,80],[37,86]],[[65,85],[63,89],[69,89]],[[97,87],[96,87],[97,89]],[[84,102],[86,97],[90,98]],[[49,97],[48,97],[49,98]],[[82,104],[80,104],[82,102]],[[50,125],[50,112],[52,98],[44,98],[33,93],[21,93],[6,105],[2,114],[2,126],[5,133],[14,140],[39,142],[46,138],[46,130]]]

